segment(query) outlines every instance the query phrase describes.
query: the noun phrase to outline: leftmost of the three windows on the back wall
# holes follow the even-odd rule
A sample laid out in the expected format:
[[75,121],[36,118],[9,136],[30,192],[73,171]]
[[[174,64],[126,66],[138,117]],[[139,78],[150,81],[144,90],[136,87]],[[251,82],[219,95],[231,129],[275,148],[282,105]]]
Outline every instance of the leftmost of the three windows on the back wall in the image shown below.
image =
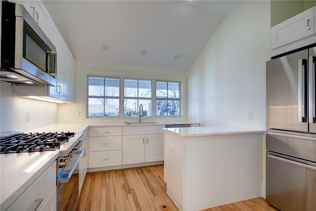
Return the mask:
[[88,116],[119,116],[119,79],[88,77]]

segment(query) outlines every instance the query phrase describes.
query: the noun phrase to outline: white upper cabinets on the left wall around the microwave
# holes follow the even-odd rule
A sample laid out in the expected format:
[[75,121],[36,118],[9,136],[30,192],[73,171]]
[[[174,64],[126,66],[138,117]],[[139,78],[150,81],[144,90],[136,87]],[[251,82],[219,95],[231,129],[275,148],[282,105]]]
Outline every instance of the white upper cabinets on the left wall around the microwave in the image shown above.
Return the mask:
[[10,0],[14,3],[23,4],[34,20],[39,24],[41,30],[56,47],[57,52],[57,74],[55,86],[49,87],[15,87],[16,95],[48,96],[63,100],[64,102],[75,102],[76,100],[76,59],[69,50],[66,42],[59,33],[54,21],[51,19],[47,9],[40,0]]

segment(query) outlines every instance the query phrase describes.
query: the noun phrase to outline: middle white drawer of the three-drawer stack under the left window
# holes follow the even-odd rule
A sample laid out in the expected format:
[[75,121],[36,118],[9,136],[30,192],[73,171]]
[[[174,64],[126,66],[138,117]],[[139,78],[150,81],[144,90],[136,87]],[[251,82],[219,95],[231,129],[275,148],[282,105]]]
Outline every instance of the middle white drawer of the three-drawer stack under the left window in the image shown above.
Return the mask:
[[99,136],[90,137],[89,151],[107,151],[122,149],[122,136]]

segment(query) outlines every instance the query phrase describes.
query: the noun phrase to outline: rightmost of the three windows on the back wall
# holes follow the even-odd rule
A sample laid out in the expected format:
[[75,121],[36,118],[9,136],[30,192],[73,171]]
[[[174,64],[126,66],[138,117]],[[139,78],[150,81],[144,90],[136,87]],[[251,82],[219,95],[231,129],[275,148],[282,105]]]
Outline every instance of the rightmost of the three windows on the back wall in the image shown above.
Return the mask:
[[156,116],[179,116],[180,83],[156,81]]

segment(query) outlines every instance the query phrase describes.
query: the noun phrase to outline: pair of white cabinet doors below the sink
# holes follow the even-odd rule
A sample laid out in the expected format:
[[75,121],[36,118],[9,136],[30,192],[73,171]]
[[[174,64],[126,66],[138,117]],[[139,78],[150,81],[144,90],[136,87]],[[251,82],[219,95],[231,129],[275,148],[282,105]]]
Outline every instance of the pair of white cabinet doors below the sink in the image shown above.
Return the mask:
[[124,135],[123,164],[163,161],[163,134]]

